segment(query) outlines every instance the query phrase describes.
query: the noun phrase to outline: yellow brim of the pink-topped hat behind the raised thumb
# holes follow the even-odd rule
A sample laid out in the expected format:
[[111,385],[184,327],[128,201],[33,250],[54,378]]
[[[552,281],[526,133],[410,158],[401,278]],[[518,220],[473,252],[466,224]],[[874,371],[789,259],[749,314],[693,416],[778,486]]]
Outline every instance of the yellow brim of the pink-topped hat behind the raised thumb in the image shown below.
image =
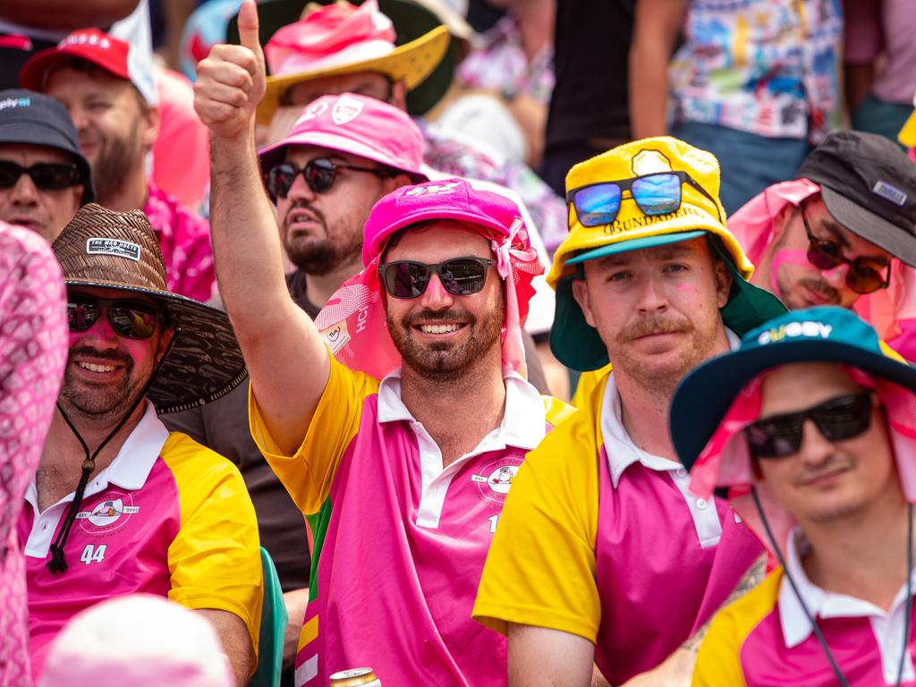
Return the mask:
[[279,107],[280,98],[297,83],[323,79],[328,76],[372,71],[384,74],[392,82],[403,82],[408,92],[417,88],[439,66],[451,38],[445,26],[433,28],[429,33],[398,46],[387,55],[348,64],[311,71],[297,71],[283,76],[267,77],[266,90],[257,105],[257,121],[269,124]]

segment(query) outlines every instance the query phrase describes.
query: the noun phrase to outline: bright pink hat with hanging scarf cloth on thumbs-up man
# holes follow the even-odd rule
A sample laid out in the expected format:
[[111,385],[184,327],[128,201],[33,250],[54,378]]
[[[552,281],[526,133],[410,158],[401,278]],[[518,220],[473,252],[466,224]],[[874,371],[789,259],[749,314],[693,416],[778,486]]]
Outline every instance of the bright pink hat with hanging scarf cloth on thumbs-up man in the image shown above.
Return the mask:
[[388,333],[378,265],[388,239],[399,229],[444,219],[472,224],[490,240],[496,271],[506,283],[503,367],[527,376],[521,328],[534,295],[531,281],[544,267],[531,247],[518,205],[460,179],[404,186],[376,203],[365,223],[365,269],[344,282],[315,319],[325,344],[341,363],[376,379],[401,365]]

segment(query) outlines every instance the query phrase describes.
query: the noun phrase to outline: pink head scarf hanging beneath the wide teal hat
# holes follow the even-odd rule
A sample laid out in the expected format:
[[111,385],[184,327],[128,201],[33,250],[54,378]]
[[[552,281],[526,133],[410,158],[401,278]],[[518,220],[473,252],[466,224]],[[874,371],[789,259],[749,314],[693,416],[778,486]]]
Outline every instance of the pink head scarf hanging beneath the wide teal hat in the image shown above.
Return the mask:
[[[908,501],[916,503],[916,395],[910,389],[857,367],[840,365],[840,368],[856,384],[878,394],[886,410],[890,444],[903,494]],[[728,487],[729,501],[735,512],[764,546],[771,550],[771,543],[750,494],[751,486],[757,491],[769,528],[780,546],[786,543],[791,530],[798,523],[780,505],[766,482],[755,478],[744,434],[747,425],[758,420],[761,387],[769,372],[771,370],[756,376],[738,393],[718,429],[706,443],[696,463],[693,463],[690,489],[696,496],[710,498],[716,486]]]

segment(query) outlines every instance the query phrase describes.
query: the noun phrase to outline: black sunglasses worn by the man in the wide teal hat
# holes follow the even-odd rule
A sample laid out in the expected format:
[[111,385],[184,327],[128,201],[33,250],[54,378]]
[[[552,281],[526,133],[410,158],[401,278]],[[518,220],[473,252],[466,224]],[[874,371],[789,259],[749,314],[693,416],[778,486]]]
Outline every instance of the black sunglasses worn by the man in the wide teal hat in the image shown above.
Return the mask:
[[824,439],[842,442],[863,434],[871,426],[872,394],[831,398],[806,410],[774,415],[747,425],[747,448],[755,458],[784,458],[802,448],[805,420],[812,420]]

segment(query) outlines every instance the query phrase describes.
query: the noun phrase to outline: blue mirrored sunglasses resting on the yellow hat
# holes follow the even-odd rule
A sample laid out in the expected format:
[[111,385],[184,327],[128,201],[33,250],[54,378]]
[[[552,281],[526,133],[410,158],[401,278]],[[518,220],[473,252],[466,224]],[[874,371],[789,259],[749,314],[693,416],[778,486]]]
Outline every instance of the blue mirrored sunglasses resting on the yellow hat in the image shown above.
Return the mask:
[[580,186],[566,193],[566,202],[575,208],[576,217],[583,226],[611,224],[620,212],[624,191],[629,191],[643,214],[650,216],[674,213],[681,207],[681,189],[684,183],[703,193],[715,205],[719,221],[719,204],[703,187],[684,171],[659,172],[643,177],[619,181],[599,181]]

